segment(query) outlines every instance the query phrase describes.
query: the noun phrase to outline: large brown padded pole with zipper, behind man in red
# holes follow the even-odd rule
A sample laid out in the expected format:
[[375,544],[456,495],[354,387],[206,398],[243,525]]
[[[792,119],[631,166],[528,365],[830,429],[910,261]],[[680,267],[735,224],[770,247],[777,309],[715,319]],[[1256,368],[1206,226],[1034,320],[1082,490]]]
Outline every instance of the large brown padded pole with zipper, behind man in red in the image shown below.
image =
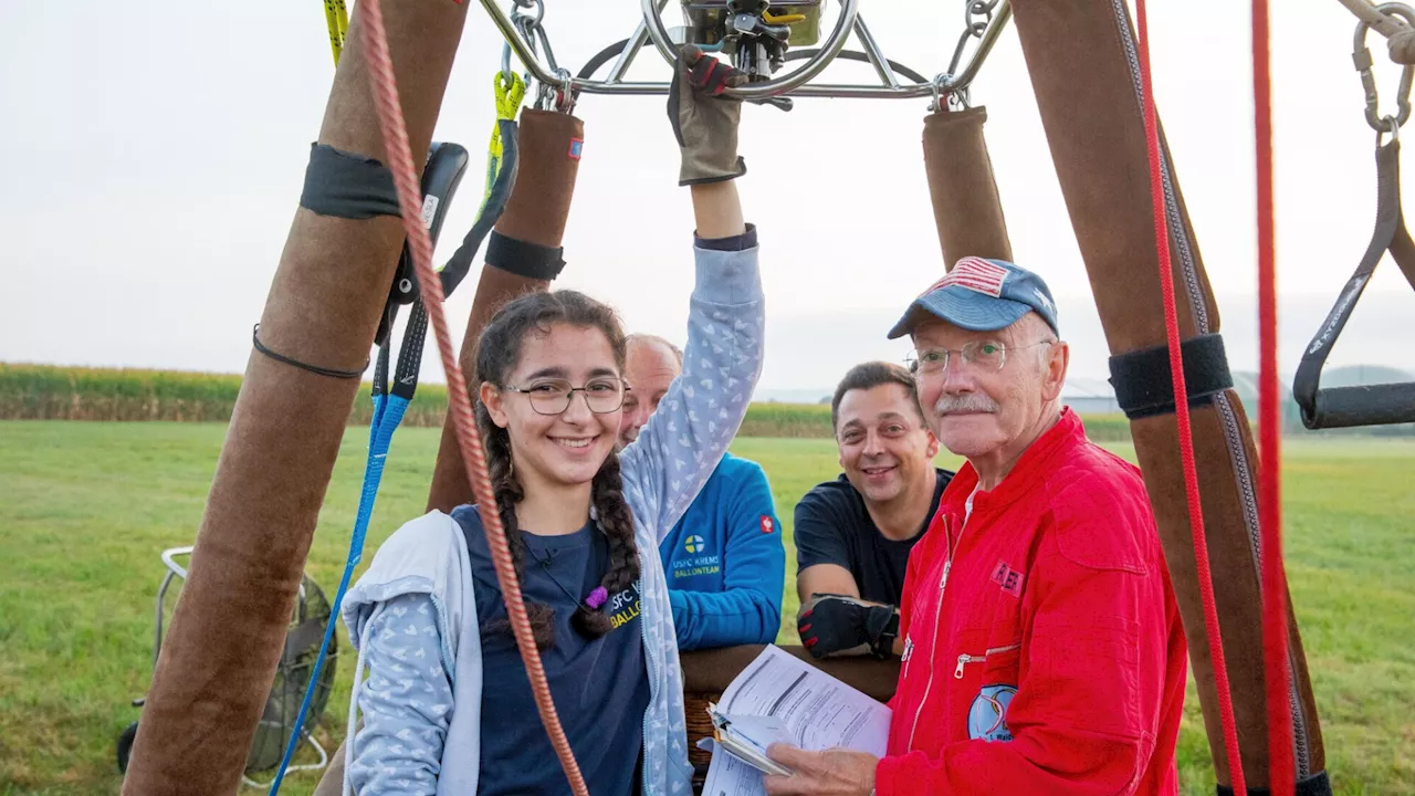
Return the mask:
[[[1135,34],[1125,4],[1013,0],[1013,14],[1111,354],[1163,347],[1165,314]],[[1180,337],[1215,334],[1218,313],[1163,139],[1162,153]],[[1249,786],[1265,786],[1268,732],[1257,564],[1257,450],[1232,390],[1194,406],[1191,419],[1244,775]],[[1227,785],[1231,763],[1218,724],[1174,415],[1132,421],[1131,432],[1189,639],[1214,768],[1218,782]],[[1299,792],[1330,793],[1329,785],[1323,789],[1326,759],[1306,660],[1296,622],[1290,616],[1289,622],[1298,779],[1306,786],[1299,785]]]

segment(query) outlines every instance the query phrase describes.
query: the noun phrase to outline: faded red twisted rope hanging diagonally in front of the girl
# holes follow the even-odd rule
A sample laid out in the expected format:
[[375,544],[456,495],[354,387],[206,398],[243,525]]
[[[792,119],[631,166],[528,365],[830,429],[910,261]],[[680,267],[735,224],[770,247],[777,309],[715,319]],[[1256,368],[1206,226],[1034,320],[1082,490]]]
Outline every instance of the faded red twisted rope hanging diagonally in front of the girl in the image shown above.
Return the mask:
[[413,156],[408,144],[408,127],[403,123],[403,109],[398,99],[398,82],[393,78],[393,61],[388,54],[388,34],[383,30],[383,11],[379,0],[361,0],[358,8],[364,13],[364,45],[368,48],[369,78],[374,86],[374,102],[378,108],[378,125],[383,133],[383,149],[393,171],[393,184],[398,188],[398,204],[402,210],[403,231],[412,245],[413,265],[417,269],[417,285],[422,290],[423,305],[427,307],[427,320],[432,323],[433,336],[437,339],[437,353],[441,354],[443,371],[447,374],[447,405],[457,431],[457,443],[461,448],[461,457],[467,463],[467,480],[471,483],[481,511],[483,525],[487,530],[487,542],[491,547],[491,558],[497,565],[497,581],[501,584],[501,593],[505,596],[507,615],[521,647],[521,660],[525,661],[526,674],[531,678],[531,691],[535,695],[536,710],[541,712],[541,722],[545,724],[550,735],[555,754],[560,758],[565,776],[570,780],[570,788],[576,796],[589,796],[580,768],[574,763],[570,742],[560,728],[560,720],[555,712],[555,703],[550,701],[550,687],[545,680],[545,669],[541,666],[541,654],[536,652],[535,640],[531,636],[531,623],[526,620],[525,603],[521,601],[521,585],[516,582],[515,567],[511,564],[511,550],[507,547],[505,528],[501,525],[501,513],[497,510],[497,499],[491,490],[491,479],[487,474],[487,462],[483,459],[481,438],[477,433],[477,422],[471,414],[471,399],[467,395],[467,382],[463,380],[457,354],[451,348],[451,334],[447,333],[447,316],[443,314],[443,290],[437,272],[433,271],[433,246],[427,237],[427,229],[422,221],[422,191],[417,186],[417,171],[413,170]]

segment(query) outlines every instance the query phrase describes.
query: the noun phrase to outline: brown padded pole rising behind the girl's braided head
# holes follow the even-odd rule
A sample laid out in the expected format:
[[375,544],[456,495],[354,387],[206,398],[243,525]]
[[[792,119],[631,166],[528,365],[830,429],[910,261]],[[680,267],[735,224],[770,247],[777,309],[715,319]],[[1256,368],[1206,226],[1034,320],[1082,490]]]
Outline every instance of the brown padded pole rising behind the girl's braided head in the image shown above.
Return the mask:
[[[570,200],[574,197],[574,178],[580,171],[580,147],[573,142],[584,140],[584,122],[567,113],[525,109],[516,130],[519,166],[516,184],[511,188],[507,210],[497,221],[497,232],[539,246],[560,248],[565,225],[570,217]],[[461,339],[461,370],[468,380],[475,374],[477,339],[481,330],[507,302],[535,290],[549,289],[545,279],[528,279],[497,268],[488,256],[481,268],[477,296],[471,303],[471,317],[467,320],[467,336]],[[473,395],[477,385],[468,384]],[[433,483],[427,494],[427,510],[451,511],[464,503],[473,503],[471,486],[467,483],[467,466],[457,448],[451,418],[443,422],[441,445],[437,449],[437,465],[433,469]]]

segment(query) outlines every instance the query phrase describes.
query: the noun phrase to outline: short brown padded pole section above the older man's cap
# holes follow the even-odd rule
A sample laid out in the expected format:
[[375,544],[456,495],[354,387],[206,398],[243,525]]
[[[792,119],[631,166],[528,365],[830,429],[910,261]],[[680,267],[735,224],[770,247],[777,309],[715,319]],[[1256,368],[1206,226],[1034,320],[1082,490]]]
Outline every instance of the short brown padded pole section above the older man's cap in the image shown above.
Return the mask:
[[988,109],[938,110],[924,118],[924,170],[944,268],[965,256],[1012,261],[1007,222],[982,127]]

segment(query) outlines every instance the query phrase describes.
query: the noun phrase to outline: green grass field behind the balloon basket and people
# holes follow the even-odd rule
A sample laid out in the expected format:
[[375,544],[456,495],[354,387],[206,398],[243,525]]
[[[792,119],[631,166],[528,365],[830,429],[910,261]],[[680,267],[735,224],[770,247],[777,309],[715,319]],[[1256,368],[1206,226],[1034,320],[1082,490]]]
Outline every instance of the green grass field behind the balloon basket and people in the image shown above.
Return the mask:
[[[151,673],[158,552],[191,544],[224,433],[205,423],[0,422],[0,795],[117,792],[115,739],[139,715],[129,703]],[[399,432],[369,551],[422,513],[437,439],[434,429]],[[365,440],[361,428],[345,436],[310,557],[330,592]],[[766,467],[787,533],[797,497],[836,473],[826,439],[743,438],[733,450]],[[1288,443],[1283,472],[1289,578],[1337,792],[1415,793],[1415,443]],[[790,579],[787,592],[790,618]],[[784,623],[781,640],[792,639]],[[340,661],[325,714],[331,745],[351,667]],[[1213,793],[1193,691],[1180,766],[1186,793]],[[314,779],[296,775],[283,792],[308,793]]]

